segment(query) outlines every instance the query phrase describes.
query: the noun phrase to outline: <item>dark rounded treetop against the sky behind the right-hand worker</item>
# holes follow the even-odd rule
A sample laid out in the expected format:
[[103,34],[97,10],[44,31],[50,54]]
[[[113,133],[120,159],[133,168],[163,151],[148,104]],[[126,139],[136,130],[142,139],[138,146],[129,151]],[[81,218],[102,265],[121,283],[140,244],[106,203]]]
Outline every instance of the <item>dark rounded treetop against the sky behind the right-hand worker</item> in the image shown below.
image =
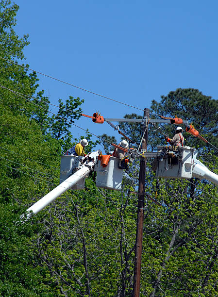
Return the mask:
[[[167,96],[161,96],[161,101],[152,100],[151,111],[158,115],[169,117],[178,116],[192,123],[199,133],[208,141],[218,146],[218,100],[211,96],[203,95],[197,89],[177,89],[169,92]],[[173,133],[174,127],[167,128],[166,132]],[[186,145],[193,147],[207,146],[199,138],[193,137],[189,133],[185,134]]]

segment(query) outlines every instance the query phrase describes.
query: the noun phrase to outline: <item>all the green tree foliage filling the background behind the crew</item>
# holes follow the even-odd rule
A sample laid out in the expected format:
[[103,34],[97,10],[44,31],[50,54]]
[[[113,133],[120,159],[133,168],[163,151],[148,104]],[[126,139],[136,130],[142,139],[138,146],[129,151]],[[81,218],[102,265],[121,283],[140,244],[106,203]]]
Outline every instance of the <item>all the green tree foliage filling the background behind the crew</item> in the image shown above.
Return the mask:
[[[28,44],[27,36],[13,31],[17,10],[16,4],[0,1],[0,56],[13,61],[24,58]],[[139,161],[129,167],[120,193],[97,188],[90,176],[84,190],[66,192],[20,224],[20,214],[59,183],[60,155],[79,141],[70,128],[84,100],[60,99],[57,115],[51,115],[36,73],[2,59],[0,67],[0,84],[24,94],[0,88],[0,296],[131,296]],[[192,121],[217,145],[217,100],[178,89],[159,103],[152,101],[151,108]],[[140,142],[140,125],[119,126]],[[150,148],[163,144],[156,128],[149,132]],[[166,132],[173,133],[172,126]],[[100,145],[88,130],[85,134],[80,138],[88,139],[87,151]],[[116,143],[114,137],[102,137]],[[185,138],[218,173],[218,157],[210,147],[188,134]],[[104,149],[111,150],[106,144]],[[155,184],[148,162],[145,186],[151,198]],[[166,179],[157,193],[162,206],[146,198],[141,296],[218,295],[217,198],[208,181]]]

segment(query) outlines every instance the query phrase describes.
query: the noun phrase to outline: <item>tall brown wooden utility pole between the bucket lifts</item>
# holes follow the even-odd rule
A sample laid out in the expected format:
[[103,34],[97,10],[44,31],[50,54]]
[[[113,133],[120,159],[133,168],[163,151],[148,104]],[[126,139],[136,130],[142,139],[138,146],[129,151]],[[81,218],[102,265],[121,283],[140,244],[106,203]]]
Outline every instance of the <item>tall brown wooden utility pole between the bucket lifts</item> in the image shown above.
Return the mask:
[[[150,109],[144,108],[144,119],[149,118]],[[148,125],[148,122],[147,122]],[[145,132],[146,129],[146,132]],[[147,150],[148,142],[148,126],[146,128],[144,122],[144,129],[142,129],[141,149]],[[144,223],[144,205],[145,205],[145,173],[146,173],[147,158],[141,158],[139,183],[138,183],[138,211],[137,211],[137,225],[136,225],[136,240],[135,240],[135,259],[134,259],[134,282],[132,297],[139,297],[140,293],[140,276],[141,276],[141,262],[142,262],[142,238],[143,238],[143,223]]]

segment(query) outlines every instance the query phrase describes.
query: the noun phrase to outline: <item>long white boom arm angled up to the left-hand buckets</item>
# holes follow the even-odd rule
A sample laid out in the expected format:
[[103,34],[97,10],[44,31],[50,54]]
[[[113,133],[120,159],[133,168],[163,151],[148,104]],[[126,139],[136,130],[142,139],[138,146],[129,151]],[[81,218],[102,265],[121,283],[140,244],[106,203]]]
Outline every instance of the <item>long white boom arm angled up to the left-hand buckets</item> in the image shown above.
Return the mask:
[[26,214],[21,215],[20,217],[21,220],[23,221],[28,220],[31,216],[31,211],[33,211],[34,214],[37,214],[38,212],[40,212],[43,208],[45,208],[48,204],[50,204],[50,202],[52,202],[54,199],[61,196],[68,189],[70,189],[74,184],[76,184],[78,181],[80,181],[86,175],[88,175],[90,171],[93,170],[93,166],[96,164],[98,156],[99,156],[99,151],[89,153],[85,157],[87,158],[86,164],[84,164],[84,166],[81,169],[79,169],[77,172],[72,174],[65,181],[59,184],[56,188],[50,191],[47,195],[45,195],[43,198],[38,200],[31,207],[29,207]]

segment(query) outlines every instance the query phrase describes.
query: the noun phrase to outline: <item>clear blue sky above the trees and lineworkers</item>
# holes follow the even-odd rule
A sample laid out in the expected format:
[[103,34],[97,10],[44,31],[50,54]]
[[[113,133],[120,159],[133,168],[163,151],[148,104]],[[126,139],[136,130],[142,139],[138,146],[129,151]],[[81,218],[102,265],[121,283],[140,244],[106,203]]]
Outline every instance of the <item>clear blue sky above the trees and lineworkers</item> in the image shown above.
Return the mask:
[[[31,68],[93,92],[134,105],[176,88],[197,88],[218,98],[217,0],[15,0],[16,32],[29,33],[24,53]],[[85,114],[104,117],[142,112],[38,75],[54,104],[68,96],[85,99]],[[56,112],[55,109],[52,109]],[[117,135],[88,118],[76,124]],[[76,137],[82,130],[72,128]],[[118,137],[119,138],[119,137]],[[93,140],[95,137],[93,138]]]

